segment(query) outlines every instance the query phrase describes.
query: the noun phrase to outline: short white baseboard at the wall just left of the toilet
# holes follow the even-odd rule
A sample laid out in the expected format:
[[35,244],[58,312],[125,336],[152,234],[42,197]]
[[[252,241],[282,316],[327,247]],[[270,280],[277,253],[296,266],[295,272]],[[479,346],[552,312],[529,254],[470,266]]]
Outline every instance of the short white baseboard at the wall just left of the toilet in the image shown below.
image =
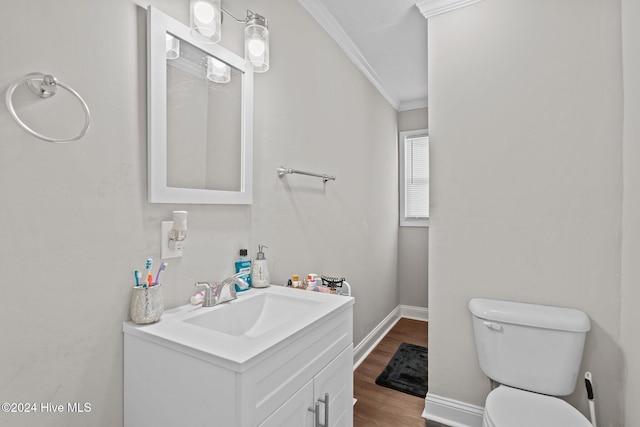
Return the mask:
[[422,418],[451,427],[482,427],[484,408],[427,393]]

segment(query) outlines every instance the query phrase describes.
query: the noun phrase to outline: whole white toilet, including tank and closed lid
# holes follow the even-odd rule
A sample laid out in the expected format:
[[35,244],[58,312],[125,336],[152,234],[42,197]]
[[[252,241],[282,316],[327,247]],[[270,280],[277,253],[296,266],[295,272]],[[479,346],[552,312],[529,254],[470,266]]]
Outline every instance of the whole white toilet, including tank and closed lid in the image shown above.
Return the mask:
[[475,298],[469,302],[478,361],[501,385],[487,396],[483,427],[590,427],[562,399],[573,393],[591,322],[570,308]]

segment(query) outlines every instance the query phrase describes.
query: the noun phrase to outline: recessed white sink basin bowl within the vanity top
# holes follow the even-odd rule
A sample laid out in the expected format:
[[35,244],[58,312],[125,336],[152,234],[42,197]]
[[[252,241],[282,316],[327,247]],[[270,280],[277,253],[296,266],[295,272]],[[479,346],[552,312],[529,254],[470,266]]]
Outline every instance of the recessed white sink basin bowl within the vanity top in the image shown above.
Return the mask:
[[252,298],[220,304],[215,310],[184,321],[226,335],[258,337],[299,318],[312,306],[321,303],[322,301],[300,298],[299,295],[262,292]]

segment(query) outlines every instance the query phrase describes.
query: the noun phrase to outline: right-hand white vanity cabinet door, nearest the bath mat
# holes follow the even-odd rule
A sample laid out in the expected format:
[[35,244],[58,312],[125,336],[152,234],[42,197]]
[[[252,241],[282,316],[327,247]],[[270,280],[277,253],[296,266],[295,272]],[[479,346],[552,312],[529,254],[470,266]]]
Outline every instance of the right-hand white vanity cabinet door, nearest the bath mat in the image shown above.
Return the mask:
[[[316,375],[313,401],[325,400],[329,393],[329,427],[353,426],[353,344]],[[325,404],[320,404],[320,422],[324,424]],[[302,424],[300,424],[302,425]]]

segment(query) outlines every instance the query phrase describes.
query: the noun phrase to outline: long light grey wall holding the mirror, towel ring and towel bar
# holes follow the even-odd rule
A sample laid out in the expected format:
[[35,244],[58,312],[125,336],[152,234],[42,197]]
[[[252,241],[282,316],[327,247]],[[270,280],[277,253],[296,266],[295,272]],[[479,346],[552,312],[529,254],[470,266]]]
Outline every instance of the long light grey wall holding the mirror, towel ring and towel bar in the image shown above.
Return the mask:
[[[271,27],[271,70],[255,78],[254,204],[146,202],[148,3],[2,3],[0,88],[55,74],[82,94],[93,123],[81,141],[53,145],[0,108],[0,396],[92,411],[0,413],[0,424],[122,425],[132,272],[158,261],[160,221],[174,209],[189,211],[189,237],[166,272],[169,307],[188,301],[194,281],[232,273],[238,249],[255,256],[258,243],[269,246],[277,283],[308,272],[348,278],[356,344],[398,305],[396,112],[295,0],[225,5],[264,14]],[[187,0],[150,3],[188,22]],[[223,31],[242,54],[242,26],[225,20]],[[54,109],[62,123],[75,118]],[[279,179],[279,165],[337,180]]]

